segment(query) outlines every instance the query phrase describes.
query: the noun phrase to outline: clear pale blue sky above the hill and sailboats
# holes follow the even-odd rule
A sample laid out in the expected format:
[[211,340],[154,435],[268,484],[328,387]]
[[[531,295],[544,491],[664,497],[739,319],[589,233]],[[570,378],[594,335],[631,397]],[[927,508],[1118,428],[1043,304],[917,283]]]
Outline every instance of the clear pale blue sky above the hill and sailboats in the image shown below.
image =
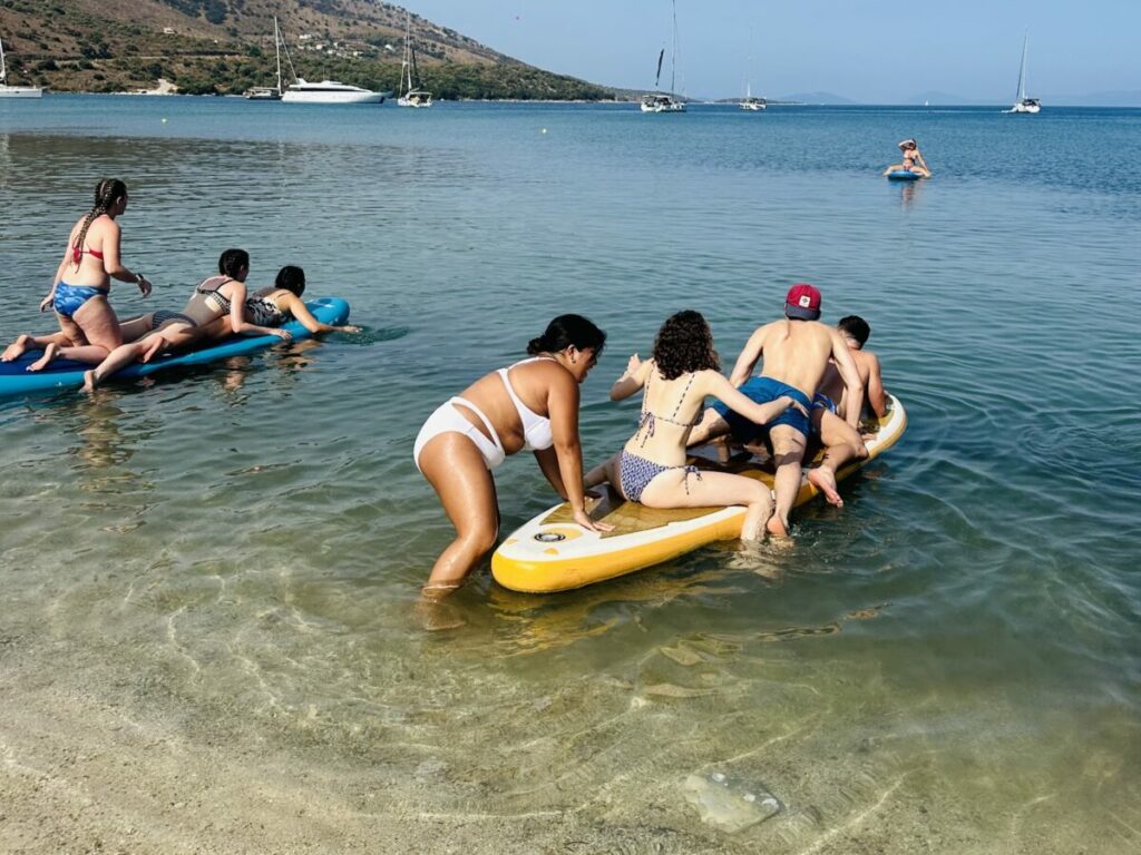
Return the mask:
[[[502,54],[623,89],[653,88],[670,0],[405,0]],[[1141,90],[1141,0],[677,0],[678,90],[694,98],[826,91],[900,104],[941,91],[1012,100],[1022,36],[1027,95]],[[750,48],[752,44],[752,49]],[[750,63],[752,54],[752,63]]]

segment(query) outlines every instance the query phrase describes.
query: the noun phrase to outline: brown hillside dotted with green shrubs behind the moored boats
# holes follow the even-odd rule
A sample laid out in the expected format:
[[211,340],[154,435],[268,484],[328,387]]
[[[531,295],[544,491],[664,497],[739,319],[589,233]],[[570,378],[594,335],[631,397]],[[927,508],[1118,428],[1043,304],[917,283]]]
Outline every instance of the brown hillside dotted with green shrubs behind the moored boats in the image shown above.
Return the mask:
[[[405,10],[372,0],[0,0],[0,39],[13,83],[122,92],[162,78],[180,92],[232,95],[274,83],[275,15],[300,76],[397,89]],[[412,39],[437,98],[613,97],[416,15]]]

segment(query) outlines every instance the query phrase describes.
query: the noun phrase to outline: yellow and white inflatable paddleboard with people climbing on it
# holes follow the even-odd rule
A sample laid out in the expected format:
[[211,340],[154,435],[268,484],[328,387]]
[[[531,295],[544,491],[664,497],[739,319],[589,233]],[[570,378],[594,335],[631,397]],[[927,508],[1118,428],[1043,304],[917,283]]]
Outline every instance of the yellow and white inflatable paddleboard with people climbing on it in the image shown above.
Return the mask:
[[[843,480],[891,448],[907,427],[907,414],[893,396],[888,396],[888,415],[863,425],[874,433],[867,441],[868,456],[836,473]],[[705,457],[694,461],[703,469],[720,469],[772,486],[770,467],[756,458],[719,464]],[[796,504],[819,492],[804,478]],[[613,531],[588,531],[576,524],[567,503],[539,514],[511,534],[492,556],[495,581],[511,591],[545,594],[569,591],[613,579],[683,555],[699,546],[741,537],[745,508],[683,507],[661,511],[626,502],[613,488],[591,508],[591,518],[614,526]]]

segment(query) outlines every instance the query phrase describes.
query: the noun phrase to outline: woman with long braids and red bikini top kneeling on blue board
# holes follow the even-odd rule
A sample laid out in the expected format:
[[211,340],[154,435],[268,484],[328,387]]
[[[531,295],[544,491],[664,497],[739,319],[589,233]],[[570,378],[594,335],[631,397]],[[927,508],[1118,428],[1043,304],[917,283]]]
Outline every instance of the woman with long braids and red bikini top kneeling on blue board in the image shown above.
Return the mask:
[[11,361],[29,348],[43,347],[43,357],[27,367],[40,370],[62,347],[71,345],[67,356],[72,359],[100,363],[123,343],[119,318],[107,300],[111,279],[135,283],[143,296],[151,293],[147,278],[128,270],[120,260],[121,230],[115,218],[126,210],[127,185],[116,178],[99,181],[95,204],[72,228],[51,291],[40,302],[40,311],[49,306],[55,309],[59,332],[40,337],[21,335],[0,358]]

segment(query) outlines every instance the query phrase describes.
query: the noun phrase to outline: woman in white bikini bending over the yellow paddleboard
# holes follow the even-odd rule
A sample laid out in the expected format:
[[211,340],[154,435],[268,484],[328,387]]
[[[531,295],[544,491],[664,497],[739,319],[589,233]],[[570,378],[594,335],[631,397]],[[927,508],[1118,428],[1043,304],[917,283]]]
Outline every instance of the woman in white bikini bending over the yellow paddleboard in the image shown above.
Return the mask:
[[606,333],[578,315],[560,315],[527,345],[529,359],[492,372],[432,413],[412,456],[455,526],[423,588],[440,600],[460,587],[495,545],[499,504],[492,470],[528,449],[574,521],[609,530],[586,514],[578,442],[578,385],[598,361]]

